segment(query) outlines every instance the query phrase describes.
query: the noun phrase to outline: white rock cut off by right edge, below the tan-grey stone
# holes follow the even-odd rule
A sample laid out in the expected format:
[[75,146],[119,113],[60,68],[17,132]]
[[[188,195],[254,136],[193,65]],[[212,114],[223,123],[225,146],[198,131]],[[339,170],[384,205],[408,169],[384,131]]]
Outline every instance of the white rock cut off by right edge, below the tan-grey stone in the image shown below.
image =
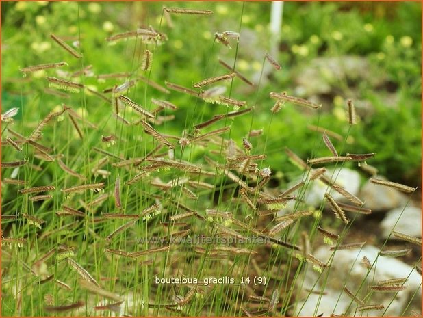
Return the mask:
[[[383,238],[387,238],[392,230],[415,237],[422,237],[422,209],[406,207],[405,209],[391,210],[381,222],[381,229]],[[395,239],[395,237],[391,235],[391,239]]]

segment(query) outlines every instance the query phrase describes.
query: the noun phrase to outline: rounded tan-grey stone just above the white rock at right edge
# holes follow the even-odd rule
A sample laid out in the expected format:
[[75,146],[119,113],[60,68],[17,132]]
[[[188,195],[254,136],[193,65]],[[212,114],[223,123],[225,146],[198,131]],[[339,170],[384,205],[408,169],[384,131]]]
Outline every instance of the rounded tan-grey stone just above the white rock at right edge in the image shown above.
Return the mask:
[[[377,178],[386,180],[383,176],[377,176]],[[361,188],[359,198],[365,202],[364,207],[374,212],[404,207],[408,200],[407,196],[400,191],[385,185],[376,185],[370,181]]]

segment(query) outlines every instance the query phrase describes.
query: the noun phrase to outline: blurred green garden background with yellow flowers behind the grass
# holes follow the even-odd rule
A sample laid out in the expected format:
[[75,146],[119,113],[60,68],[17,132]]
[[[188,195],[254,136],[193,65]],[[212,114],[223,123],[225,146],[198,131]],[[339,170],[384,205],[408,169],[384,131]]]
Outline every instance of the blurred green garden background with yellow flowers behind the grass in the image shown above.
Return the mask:
[[[210,9],[212,16],[172,16],[172,25],[162,17],[168,7]],[[218,59],[233,65],[254,83],[260,80],[264,54],[275,39],[269,31],[271,3],[75,3],[3,2],[2,11],[2,109],[36,105],[38,120],[62,102],[81,107],[81,98],[71,94],[64,101],[44,93],[47,82],[36,74],[23,78],[19,68],[49,62],[69,63],[67,71],[92,64],[94,75],[129,72],[142,60],[145,47],[135,40],[108,45],[107,36],[152,25],[168,41],[155,48],[151,79],[190,87],[205,77],[225,74]],[[216,31],[240,31],[238,47],[229,50],[214,43]],[[81,38],[83,62],[73,59],[49,37],[51,32],[68,43]],[[78,43],[74,43],[77,45]],[[152,48],[153,46],[151,46]],[[150,46],[149,46],[150,48]],[[253,140],[255,153],[264,150],[266,165],[280,170],[281,178],[292,168],[283,154],[285,146],[306,159],[316,151],[321,133],[316,125],[347,135],[346,100],[357,107],[359,124],[349,133],[344,153],[377,153],[370,164],[392,181],[421,183],[421,4],[408,3],[292,3],[284,4],[283,25],[277,55],[282,66],[277,72],[264,68],[259,89],[236,79],[233,98],[255,106],[253,129],[264,129],[267,144]],[[83,65],[81,63],[84,63]],[[42,75],[44,77],[45,75]],[[54,75],[53,75],[54,76]],[[95,76],[85,83],[99,92],[120,83],[99,83]],[[144,89],[144,85],[141,85]],[[269,92],[283,92],[322,103],[322,111],[295,105],[269,121],[274,104]],[[155,98],[179,106],[166,132],[180,135],[201,111],[203,120],[225,113],[218,105],[201,105],[195,98],[172,92],[153,91]],[[143,93],[140,93],[141,95]],[[141,98],[142,99],[142,98]],[[149,103],[149,101],[144,101]],[[90,120],[104,116],[110,106],[96,96],[87,96]],[[29,107],[29,106],[28,106]],[[22,111],[19,116],[21,116]],[[25,117],[26,118],[26,117]],[[195,123],[198,123],[196,117]],[[251,116],[237,118],[231,137],[240,139],[250,129]],[[24,126],[25,127],[25,126]],[[28,125],[29,133],[33,127]],[[342,141],[333,140],[338,149]],[[313,146],[314,145],[314,146]],[[321,147],[313,155],[328,155]]]

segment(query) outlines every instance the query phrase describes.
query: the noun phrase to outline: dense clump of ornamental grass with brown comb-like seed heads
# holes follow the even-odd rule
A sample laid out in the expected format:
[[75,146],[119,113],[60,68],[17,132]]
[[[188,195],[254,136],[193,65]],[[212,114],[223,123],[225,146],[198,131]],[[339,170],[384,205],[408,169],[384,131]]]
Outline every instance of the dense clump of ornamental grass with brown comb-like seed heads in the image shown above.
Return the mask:
[[[166,27],[207,19],[213,14],[207,8],[164,8],[157,25],[110,35],[99,50],[107,54],[108,42],[114,42],[122,59],[131,56],[125,70],[97,70],[86,58],[90,53],[84,51],[80,26],[75,49],[66,37],[51,34],[66,62],[21,68],[28,79],[22,85],[36,92],[34,102],[21,105],[23,120],[13,120],[16,109],[2,114],[3,315],[296,315],[300,274],[308,266],[328,276],[331,270],[331,263],[311,250],[318,242],[316,230],[326,243],[336,241],[328,246],[333,253],[363,247],[366,242],[345,237],[357,213],[371,211],[337,185],[336,175],[315,167],[371,159],[374,154],[346,153],[349,131],[338,149],[324,130],[311,141],[313,153],[326,145],[331,157],[301,159],[293,150],[281,151],[302,179],[293,187],[270,184],[274,167],[266,164],[266,150],[272,121],[283,120],[284,107],[322,110],[305,98],[271,91],[266,94],[276,104],[262,107],[257,97],[262,77],[253,96],[235,92],[235,85],[252,83],[236,70],[243,10],[244,5],[238,30],[216,30],[201,44],[210,51],[203,78],[172,83],[166,75],[156,76],[166,69],[153,57],[175,36],[171,29],[166,34]],[[233,46],[233,64],[223,62],[230,70],[226,75],[215,68],[222,64],[217,42],[223,49]],[[62,57],[60,47],[51,48],[53,55]],[[67,59],[69,53],[77,59]],[[266,53],[261,72],[266,63],[283,71]],[[54,97],[44,95],[47,86]],[[57,107],[40,107],[49,98]],[[190,106],[181,129],[175,118],[183,118],[183,103]],[[345,124],[354,129],[352,103],[346,109]],[[262,113],[270,116],[264,129],[255,127],[255,116]],[[326,209],[324,203],[319,209],[305,204],[317,182],[327,187]],[[335,191],[352,205],[336,202]],[[294,209],[278,215],[288,202],[295,202]],[[328,208],[335,217],[322,213]],[[341,234],[331,233],[327,224]],[[370,268],[376,266],[372,261]],[[170,277],[189,279],[156,283]],[[402,284],[376,284],[368,292],[401,292]],[[372,304],[366,297],[358,305],[366,313],[390,304]]]

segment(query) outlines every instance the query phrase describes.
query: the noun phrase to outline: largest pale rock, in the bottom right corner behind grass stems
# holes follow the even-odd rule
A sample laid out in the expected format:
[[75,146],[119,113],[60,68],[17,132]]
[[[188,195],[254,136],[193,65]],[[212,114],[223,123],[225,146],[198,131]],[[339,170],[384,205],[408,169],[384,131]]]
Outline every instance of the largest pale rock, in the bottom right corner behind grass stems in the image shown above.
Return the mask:
[[[377,259],[375,268],[372,268],[368,274],[368,269],[361,265],[361,260],[363,256],[367,256],[370,263],[373,263],[378,253],[379,249],[374,246],[365,246],[361,251],[359,249],[339,250],[335,252],[331,267],[324,269],[321,276],[312,269],[311,265],[308,265],[304,282],[303,280],[298,280],[297,282],[298,287],[302,289],[300,295],[303,297],[299,297],[301,300],[291,314],[293,316],[312,316],[315,313],[317,315],[323,313],[324,316],[329,316],[331,313],[337,315],[346,314],[348,316],[380,316],[382,314],[385,316],[398,316],[403,315],[403,311],[412,297],[413,300],[408,310],[416,308],[420,311],[422,276],[406,263],[398,261],[398,259],[382,256]],[[332,254],[333,252],[327,246],[318,248],[314,253],[323,262],[328,262]],[[328,275],[327,279],[326,275]],[[379,280],[407,277],[406,289],[398,292],[397,295],[395,295],[396,293],[373,292],[370,299],[366,300],[366,304],[383,304],[385,306],[383,310],[368,311],[366,313],[356,312],[357,304],[352,302],[348,295],[343,292],[344,286],[346,286],[352,293],[357,293],[361,283],[364,281],[359,293],[357,293],[357,296],[363,299],[368,294],[368,285],[376,284]],[[325,295],[322,295],[322,297],[320,295],[309,295],[305,291],[305,289],[313,289],[313,291],[318,292],[322,290],[323,286]],[[308,298],[307,295],[309,295]]]

